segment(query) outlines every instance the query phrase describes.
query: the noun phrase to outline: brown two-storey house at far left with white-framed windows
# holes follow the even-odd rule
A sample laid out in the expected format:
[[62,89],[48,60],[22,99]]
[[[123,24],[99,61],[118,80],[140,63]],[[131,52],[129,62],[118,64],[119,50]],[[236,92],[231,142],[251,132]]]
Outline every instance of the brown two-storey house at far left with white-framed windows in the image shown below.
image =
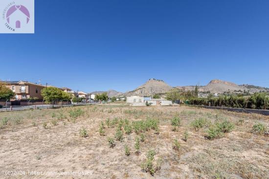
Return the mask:
[[10,88],[14,93],[16,93],[16,99],[43,99],[41,96],[41,90],[45,86],[37,83],[31,83],[28,81],[3,81],[5,86]]

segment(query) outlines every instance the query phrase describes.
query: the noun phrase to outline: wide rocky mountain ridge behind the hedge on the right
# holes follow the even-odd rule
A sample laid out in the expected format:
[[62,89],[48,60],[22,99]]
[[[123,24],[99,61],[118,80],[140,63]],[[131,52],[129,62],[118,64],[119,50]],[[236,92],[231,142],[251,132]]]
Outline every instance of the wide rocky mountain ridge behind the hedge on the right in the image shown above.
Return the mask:
[[[176,88],[192,91],[195,89],[195,86],[177,86]],[[233,82],[224,81],[224,80],[211,80],[206,86],[199,86],[200,92],[209,92],[210,93],[226,93],[226,92],[244,92],[248,91],[250,93],[260,92],[260,91],[268,91],[268,88],[259,87],[254,85],[238,85]]]

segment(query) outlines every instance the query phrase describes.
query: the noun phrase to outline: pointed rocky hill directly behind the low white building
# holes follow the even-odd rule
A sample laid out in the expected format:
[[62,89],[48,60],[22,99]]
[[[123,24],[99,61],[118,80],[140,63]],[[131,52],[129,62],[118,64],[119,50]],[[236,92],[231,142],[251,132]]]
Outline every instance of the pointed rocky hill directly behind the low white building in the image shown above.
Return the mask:
[[164,94],[172,89],[172,86],[166,84],[163,80],[150,79],[143,85],[129,91],[124,96],[153,96],[154,94]]

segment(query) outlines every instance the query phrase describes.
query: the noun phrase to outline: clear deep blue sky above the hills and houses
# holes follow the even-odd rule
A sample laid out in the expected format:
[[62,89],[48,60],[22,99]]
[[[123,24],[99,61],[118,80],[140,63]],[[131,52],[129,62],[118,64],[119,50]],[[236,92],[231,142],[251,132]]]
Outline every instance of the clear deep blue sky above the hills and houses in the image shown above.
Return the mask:
[[212,79],[269,87],[268,0],[35,0],[35,34],[0,34],[0,79],[91,92]]

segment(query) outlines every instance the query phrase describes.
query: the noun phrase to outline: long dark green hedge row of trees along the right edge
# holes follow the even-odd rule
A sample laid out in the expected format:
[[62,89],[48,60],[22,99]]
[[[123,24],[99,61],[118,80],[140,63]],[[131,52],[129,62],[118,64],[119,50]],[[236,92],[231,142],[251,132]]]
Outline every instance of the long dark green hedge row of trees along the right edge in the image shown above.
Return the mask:
[[254,93],[251,96],[242,95],[221,95],[213,97],[210,94],[207,98],[198,98],[196,91],[180,91],[172,89],[166,94],[166,99],[172,100],[174,103],[180,99],[193,105],[210,105],[210,106],[224,106],[235,108],[250,108],[250,109],[266,109],[269,106],[268,93]]

